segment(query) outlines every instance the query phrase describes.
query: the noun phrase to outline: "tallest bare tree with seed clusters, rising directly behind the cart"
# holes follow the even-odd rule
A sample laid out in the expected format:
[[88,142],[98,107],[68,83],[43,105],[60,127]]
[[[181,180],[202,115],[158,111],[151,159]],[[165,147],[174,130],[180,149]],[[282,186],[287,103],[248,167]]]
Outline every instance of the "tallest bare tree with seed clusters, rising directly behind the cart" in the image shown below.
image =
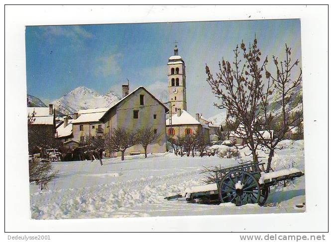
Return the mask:
[[263,93],[265,85],[262,72],[268,60],[266,57],[261,61],[257,39],[254,39],[248,50],[244,43],[241,43],[240,49],[237,45],[233,50],[234,60],[231,63],[224,59],[222,63],[219,62],[219,73],[216,77],[206,65],[207,82],[221,100],[221,103],[215,103],[215,106],[227,109],[227,122],[234,124],[239,121],[243,124],[242,130],[236,129],[235,133],[246,139],[245,145],[251,150],[253,161],[258,162],[256,150],[259,144],[255,142],[254,123],[261,102],[260,94]]

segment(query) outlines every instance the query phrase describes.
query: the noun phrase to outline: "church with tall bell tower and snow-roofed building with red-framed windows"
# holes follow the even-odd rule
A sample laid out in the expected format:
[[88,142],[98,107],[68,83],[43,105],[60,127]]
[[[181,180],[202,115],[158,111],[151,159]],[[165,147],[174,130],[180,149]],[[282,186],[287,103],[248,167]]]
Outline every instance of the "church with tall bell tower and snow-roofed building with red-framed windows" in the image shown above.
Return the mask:
[[177,45],[174,55],[168,60],[168,94],[169,117],[166,120],[167,134],[169,138],[202,132],[206,142],[209,142],[209,127],[205,123],[192,117],[187,112],[186,101],[186,72],[185,62],[178,55]]

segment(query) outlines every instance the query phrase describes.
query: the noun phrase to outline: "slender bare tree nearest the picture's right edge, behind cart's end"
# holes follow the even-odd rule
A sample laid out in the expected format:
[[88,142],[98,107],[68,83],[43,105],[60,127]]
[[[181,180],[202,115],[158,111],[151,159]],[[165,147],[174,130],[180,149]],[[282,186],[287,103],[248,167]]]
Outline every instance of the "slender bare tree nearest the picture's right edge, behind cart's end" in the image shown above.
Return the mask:
[[[301,126],[303,121],[302,112],[295,113],[290,115],[289,106],[293,101],[295,91],[301,85],[302,82],[302,69],[299,69],[298,73],[297,66],[299,60],[291,60],[291,48],[287,46],[285,48],[285,59],[279,62],[278,58],[273,56],[274,66],[276,69],[276,76],[272,76],[266,70],[266,78],[268,79],[268,85],[266,92],[260,94],[261,105],[260,112],[258,115],[257,122],[261,129],[269,132],[269,137],[265,137],[263,132],[256,129],[256,137],[258,140],[269,149],[268,162],[266,172],[271,168],[272,157],[276,149],[277,144],[284,139],[287,132],[291,130],[291,125]],[[266,68],[265,68],[266,69]],[[273,94],[276,94],[280,97],[277,100],[277,104],[281,106],[281,115],[277,120],[275,120],[270,109],[269,97]],[[275,133],[273,134],[273,127]]]

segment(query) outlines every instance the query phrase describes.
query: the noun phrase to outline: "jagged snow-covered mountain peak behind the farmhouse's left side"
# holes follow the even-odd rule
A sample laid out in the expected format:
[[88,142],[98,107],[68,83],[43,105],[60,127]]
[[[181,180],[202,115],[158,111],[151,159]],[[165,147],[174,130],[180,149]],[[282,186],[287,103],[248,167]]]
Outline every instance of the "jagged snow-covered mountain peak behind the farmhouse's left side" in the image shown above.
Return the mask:
[[97,109],[112,107],[121,98],[113,91],[100,95],[98,92],[80,86],[65,94],[63,97],[54,100],[52,104],[56,110],[66,114],[73,114],[80,109]]

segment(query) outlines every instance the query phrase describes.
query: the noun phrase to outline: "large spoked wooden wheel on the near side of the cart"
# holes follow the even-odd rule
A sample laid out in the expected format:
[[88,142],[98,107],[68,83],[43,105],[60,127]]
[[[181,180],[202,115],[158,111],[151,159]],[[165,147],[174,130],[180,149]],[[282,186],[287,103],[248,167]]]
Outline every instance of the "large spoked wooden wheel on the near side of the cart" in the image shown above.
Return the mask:
[[260,195],[259,182],[247,171],[230,171],[223,176],[220,182],[219,198],[222,203],[231,202],[236,206],[259,203]]

